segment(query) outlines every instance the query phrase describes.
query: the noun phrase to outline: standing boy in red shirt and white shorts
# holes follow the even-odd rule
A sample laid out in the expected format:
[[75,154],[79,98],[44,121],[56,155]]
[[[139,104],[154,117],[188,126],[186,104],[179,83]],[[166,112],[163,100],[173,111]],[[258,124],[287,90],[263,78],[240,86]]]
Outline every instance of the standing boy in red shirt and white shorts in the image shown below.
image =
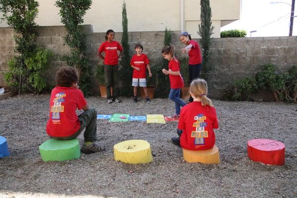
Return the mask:
[[147,103],[149,103],[150,99],[148,98],[146,66],[148,67],[148,76],[151,77],[152,74],[149,68],[148,56],[145,53],[142,53],[144,48],[141,44],[136,44],[134,49],[136,54],[132,56],[130,61],[130,65],[134,69],[132,77],[132,86],[134,87],[133,101],[137,102],[137,87],[140,86],[144,89]]

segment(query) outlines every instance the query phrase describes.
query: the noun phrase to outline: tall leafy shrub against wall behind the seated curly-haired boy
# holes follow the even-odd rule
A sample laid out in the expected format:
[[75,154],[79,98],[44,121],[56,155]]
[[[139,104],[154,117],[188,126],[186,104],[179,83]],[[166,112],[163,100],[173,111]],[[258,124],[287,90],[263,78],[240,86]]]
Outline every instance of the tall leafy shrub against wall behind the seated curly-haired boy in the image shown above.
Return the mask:
[[85,56],[86,36],[83,33],[83,16],[90,9],[92,0],[56,0],[55,5],[60,8],[61,23],[65,25],[67,35],[64,42],[70,47],[71,54],[63,57],[69,66],[76,67],[79,73],[79,86],[83,93],[91,94],[92,67]]

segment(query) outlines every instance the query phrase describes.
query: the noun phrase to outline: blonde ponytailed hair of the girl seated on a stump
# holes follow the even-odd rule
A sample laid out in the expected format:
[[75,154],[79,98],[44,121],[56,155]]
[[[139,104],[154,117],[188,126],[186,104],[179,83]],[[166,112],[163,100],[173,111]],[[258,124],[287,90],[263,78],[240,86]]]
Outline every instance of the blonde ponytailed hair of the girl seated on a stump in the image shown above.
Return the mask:
[[190,86],[190,92],[195,96],[195,98],[201,98],[202,106],[213,106],[212,101],[206,96],[207,83],[205,80],[200,78],[193,80]]

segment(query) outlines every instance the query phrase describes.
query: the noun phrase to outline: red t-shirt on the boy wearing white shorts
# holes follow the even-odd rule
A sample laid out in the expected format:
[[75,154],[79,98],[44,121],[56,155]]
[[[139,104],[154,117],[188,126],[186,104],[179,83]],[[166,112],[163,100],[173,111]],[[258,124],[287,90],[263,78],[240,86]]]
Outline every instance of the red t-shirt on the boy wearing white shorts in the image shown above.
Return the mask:
[[147,54],[142,53],[140,56],[137,54],[133,55],[130,64],[134,67],[140,68],[139,71],[134,69],[133,78],[147,78],[146,66],[149,63]]

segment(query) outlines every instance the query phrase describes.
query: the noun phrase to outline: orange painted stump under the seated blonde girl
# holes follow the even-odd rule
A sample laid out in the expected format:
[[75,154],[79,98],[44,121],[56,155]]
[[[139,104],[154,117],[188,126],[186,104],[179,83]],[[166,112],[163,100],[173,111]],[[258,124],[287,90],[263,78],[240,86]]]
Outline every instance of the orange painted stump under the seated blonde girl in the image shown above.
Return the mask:
[[220,154],[216,146],[207,150],[187,150],[183,148],[184,159],[188,163],[219,164]]

